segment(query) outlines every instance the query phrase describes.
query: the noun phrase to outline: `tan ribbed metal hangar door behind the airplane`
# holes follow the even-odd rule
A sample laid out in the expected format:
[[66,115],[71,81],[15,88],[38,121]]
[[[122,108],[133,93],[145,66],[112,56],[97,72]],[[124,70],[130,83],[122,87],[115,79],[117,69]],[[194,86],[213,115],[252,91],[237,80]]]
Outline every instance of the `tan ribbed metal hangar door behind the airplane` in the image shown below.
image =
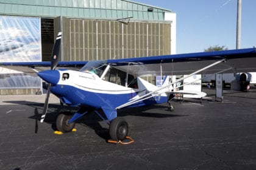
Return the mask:
[[63,18],[63,60],[87,61],[167,55],[171,24]]

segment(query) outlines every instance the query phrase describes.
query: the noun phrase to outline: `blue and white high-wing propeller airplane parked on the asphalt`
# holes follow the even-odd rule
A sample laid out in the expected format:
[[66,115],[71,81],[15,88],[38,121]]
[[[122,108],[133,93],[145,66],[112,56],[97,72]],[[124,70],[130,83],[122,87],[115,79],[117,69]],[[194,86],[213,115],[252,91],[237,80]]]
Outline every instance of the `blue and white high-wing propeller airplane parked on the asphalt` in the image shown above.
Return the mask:
[[[59,33],[52,50],[51,70],[38,72],[49,83],[41,122],[46,117],[50,92],[61,103],[78,106],[75,114],[60,114],[56,126],[61,132],[72,131],[75,123],[88,112],[94,112],[106,121],[113,140],[124,140],[128,124],[118,117],[117,110],[166,103],[172,94],[172,85],[198,73],[251,72],[256,70],[256,50],[240,49],[219,52],[187,53],[119,60],[58,62]],[[47,66],[49,63],[1,63],[17,66]],[[82,69],[56,69],[57,66],[85,64]],[[187,75],[175,82],[163,80],[157,87],[140,78],[143,75]],[[198,81],[198,80],[195,80]],[[104,112],[104,115],[100,114]],[[48,115],[50,116],[50,115]]]

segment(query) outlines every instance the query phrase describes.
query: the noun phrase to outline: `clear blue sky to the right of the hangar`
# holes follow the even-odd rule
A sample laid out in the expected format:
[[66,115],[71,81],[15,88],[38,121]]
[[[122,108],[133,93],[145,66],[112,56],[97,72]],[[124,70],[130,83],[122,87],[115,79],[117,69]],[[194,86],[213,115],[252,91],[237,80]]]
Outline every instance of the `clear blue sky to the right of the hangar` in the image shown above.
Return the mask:
[[[177,53],[236,48],[237,0],[133,0],[177,14]],[[256,1],[242,0],[241,48],[256,46]]]

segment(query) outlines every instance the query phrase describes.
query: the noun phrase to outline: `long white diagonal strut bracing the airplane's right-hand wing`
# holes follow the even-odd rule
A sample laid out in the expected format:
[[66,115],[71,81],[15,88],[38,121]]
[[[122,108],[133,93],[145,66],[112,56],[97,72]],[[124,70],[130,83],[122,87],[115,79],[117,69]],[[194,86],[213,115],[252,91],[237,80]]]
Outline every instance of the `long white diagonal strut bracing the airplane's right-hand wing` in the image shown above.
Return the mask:
[[185,77],[183,77],[183,78],[180,78],[179,80],[174,81],[173,83],[166,84],[165,86],[159,87],[157,90],[154,90],[154,91],[152,91],[152,92],[149,92],[148,94],[143,95],[143,96],[141,96],[141,97],[139,97],[139,98],[136,98],[135,100],[131,100],[131,101],[127,102],[127,103],[124,103],[124,104],[122,104],[121,106],[116,107],[116,109],[121,109],[121,108],[123,108],[123,107],[127,107],[127,106],[130,106],[130,105],[135,104],[135,103],[137,103],[137,102],[140,102],[140,101],[146,100],[146,99],[148,99],[148,98],[154,97],[155,95],[162,94],[163,92],[166,92],[166,90],[163,91],[163,92],[159,92],[160,90],[169,89],[169,87],[170,87],[172,84],[177,83],[177,82],[179,82],[179,81],[182,81],[182,80],[184,80],[185,78],[191,77],[191,76],[193,76],[193,75],[195,75],[195,74],[197,74],[197,73],[199,73],[199,72],[202,72],[202,71],[204,71],[204,70],[206,70],[206,69],[209,69],[210,67],[213,67],[213,66],[215,66],[215,65],[217,65],[217,64],[219,64],[219,63],[222,63],[222,62],[225,61],[225,60],[226,60],[226,59],[222,59],[222,60],[220,60],[220,61],[216,61],[215,63],[210,64],[209,66],[206,66],[206,67],[204,67],[204,68],[202,68],[202,69],[200,69],[200,70],[197,70],[196,72],[193,72],[193,73],[191,73],[190,75],[187,75],[187,76],[185,76]]

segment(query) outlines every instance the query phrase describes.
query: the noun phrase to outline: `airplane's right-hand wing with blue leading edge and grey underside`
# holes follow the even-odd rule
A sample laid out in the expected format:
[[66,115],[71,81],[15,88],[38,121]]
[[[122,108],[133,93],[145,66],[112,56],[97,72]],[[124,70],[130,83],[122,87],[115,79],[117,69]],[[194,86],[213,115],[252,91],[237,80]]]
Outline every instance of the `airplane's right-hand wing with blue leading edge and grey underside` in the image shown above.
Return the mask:
[[150,56],[108,60],[116,69],[140,77],[143,75],[185,75],[215,61],[224,60],[201,73],[256,72],[256,49],[224,50],[218,52],[185,53],[178,55]]

